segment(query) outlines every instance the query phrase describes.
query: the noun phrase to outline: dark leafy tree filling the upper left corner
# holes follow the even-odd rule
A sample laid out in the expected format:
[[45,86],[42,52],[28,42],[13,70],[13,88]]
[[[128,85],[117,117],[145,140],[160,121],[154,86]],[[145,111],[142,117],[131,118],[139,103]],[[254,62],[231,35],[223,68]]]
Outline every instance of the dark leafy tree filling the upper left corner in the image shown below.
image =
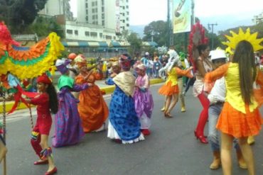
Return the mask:
[[12,33],[21,33],[33,23],[38,11],[48,0],[0,0],[0,20],[6,22]]

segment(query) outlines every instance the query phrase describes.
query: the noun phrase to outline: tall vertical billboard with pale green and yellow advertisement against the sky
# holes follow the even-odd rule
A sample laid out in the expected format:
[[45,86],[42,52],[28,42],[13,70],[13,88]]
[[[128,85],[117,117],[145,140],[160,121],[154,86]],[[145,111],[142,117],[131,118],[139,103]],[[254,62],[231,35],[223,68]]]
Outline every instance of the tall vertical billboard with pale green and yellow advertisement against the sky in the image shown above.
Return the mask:
[[173,33],[190,32],[192,0],[173,0]]

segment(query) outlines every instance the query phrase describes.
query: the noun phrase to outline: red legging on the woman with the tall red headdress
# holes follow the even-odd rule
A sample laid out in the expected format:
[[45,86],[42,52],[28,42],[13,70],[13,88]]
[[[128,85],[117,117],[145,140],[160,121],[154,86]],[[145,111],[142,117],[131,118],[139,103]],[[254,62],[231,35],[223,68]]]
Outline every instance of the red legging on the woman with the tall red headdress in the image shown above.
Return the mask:
[[203,131],[205,129],[205,123],[208,121],[208,108],[210,105],[210,101],[203,92],[198,95],[198,98],[203,106],[203,111],[201,111],[200,113],[198,125],[196,126],[195,131],[198,136],[204,136]]

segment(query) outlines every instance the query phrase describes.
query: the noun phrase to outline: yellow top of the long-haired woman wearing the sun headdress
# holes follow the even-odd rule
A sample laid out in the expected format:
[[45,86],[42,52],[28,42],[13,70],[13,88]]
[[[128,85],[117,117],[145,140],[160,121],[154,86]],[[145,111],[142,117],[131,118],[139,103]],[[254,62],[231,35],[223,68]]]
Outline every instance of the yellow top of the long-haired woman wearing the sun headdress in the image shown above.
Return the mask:
[[[229,102],[230,105],[235,108],[237,111],[246,113],[245,111],[245,102],[242,99],[240,81],[239,78],[239,68],[237,63],[230,63],[227,74],[225,76],[225,83],[227,88],[227,94],[225,101]],[[255,101],[254,96],[251,97],[251,104],[249,104],[249,111],[254,111],[257,108],[258,104]]]

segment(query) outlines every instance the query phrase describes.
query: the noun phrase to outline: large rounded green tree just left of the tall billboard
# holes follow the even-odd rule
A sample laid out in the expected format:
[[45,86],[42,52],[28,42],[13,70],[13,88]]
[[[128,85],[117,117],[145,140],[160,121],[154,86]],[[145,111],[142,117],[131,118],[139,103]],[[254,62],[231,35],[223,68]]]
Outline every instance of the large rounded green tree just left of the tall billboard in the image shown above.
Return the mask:
[[153,21],[148,26],[144,27],[144,41],[151,41],[154,37],[154,42],[159,46],[167,45],[168,24],[166,21]]

